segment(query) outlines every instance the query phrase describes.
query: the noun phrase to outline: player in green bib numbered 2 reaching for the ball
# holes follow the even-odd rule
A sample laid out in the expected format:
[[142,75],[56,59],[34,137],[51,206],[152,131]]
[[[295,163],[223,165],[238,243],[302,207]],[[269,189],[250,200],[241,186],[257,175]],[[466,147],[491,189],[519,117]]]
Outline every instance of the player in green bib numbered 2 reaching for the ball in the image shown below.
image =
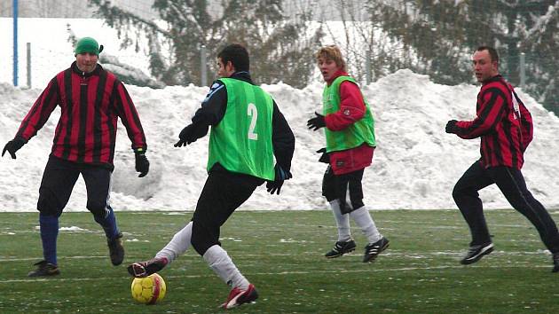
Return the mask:
[[[224,309],[253,302],[253,284],[240,273],[219,242],[220,227],[256,187],[267,182],[268,192],[281,189],[291,177],[295,137],[270,94],[256,86],[248,73],[248,51],[231,44],[217,55],[220,77],[213,82],[193,122],[180,132],[176,147],[209,135],[208,179],[193,219],[166,247],[146,262],[132,263],[130,275],[145,277],[161,271],[193,246],[232,287]],[[275,158],[275,165],[274,165]]]

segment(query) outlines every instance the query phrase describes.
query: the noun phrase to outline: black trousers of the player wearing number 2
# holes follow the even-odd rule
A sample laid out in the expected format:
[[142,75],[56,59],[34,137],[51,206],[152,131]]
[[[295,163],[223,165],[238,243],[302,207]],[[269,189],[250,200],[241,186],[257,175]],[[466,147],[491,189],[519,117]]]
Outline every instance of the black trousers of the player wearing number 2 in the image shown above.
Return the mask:
[[193,214],[191,243],[200,255],[221,246],[220,228],[264,180],[226,170],[209,173]]

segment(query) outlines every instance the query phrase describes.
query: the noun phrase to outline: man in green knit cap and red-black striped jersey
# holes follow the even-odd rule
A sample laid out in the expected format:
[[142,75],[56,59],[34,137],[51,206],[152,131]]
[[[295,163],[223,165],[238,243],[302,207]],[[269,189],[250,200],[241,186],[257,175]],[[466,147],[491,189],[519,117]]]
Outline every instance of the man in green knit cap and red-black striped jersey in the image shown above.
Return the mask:
[[56,254],[59,216],[80,174],[87,188],[87,208],[105,231],[111,263],[119,265],[124,258],[122,233],[108,201],[119,118],[132,142],[139,177],[146,176],[149,161],[146,136],[128,91],[97,63],[102,50],[103,45],[99,46],[91,37],[78,41],[75,62],[51,79],[2,152],[3,156],[8,152],[15,159],[16,152],[43,127],[52,111],[60,107],[37,202],[44,259],[35,263],[37,268],[29,272],[30,277],[54,276],[60,272]]

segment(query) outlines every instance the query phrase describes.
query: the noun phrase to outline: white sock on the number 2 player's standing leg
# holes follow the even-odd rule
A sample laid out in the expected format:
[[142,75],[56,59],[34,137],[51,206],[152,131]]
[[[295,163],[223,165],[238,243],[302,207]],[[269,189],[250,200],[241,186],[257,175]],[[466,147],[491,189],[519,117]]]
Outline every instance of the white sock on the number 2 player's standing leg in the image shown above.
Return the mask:
[[248,289],[250,283],[232,263],[231,257],[223,247],[218,245],[209,247],[202,257],[217,276],[224,280],[224,283],[231,287],[239,287],[241,290]]

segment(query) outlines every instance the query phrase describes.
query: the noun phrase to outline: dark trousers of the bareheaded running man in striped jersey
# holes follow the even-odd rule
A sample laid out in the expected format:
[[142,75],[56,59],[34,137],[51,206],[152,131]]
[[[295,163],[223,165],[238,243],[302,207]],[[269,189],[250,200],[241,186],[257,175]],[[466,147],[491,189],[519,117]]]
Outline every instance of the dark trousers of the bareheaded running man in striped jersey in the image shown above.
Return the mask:
[[492,167],[485,169],[476,161],[458,180],[453,190],[453,199],[468,223],[472,234],[470,245],[491,242],[489,230],[485,223],[482,201],[478,191],[484,187],[497,184],[510,205],[530,220],[539,232],[547,249],[559,252],[559,232],[557,225],[546,208],[534,199],[526,188],[524,177],[519,169]]

